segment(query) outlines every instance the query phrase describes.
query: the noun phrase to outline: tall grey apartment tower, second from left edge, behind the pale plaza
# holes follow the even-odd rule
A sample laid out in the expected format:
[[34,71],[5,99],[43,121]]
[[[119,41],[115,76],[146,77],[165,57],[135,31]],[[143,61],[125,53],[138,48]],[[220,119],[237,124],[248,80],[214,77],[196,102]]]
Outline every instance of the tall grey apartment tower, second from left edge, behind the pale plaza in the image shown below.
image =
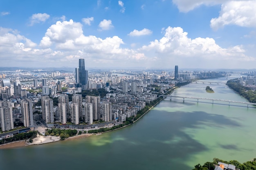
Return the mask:
[[21,103],[22,122],[25,127],[33,127],[33,102],[29,99],[22,99]]

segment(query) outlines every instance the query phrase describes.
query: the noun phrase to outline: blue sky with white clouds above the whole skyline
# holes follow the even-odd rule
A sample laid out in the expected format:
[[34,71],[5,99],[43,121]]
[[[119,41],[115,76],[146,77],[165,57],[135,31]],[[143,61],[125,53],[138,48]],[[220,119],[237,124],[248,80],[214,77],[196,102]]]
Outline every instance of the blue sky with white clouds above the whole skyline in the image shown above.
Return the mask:
[[0,66],[256,68],[255,0],[1,0]]

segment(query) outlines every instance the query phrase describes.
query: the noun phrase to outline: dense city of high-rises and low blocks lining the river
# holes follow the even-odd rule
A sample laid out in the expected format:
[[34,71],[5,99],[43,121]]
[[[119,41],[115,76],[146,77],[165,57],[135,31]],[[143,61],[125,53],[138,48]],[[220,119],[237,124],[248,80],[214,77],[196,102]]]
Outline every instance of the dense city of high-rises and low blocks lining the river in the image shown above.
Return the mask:
[[[254,73],[243,85],[254,86]],[[74,72],[0,72],[0,139],[48,128],[95,128],[121,124],[178,83],[225,77],[217,71],[89,71],[79,59]],[[22,127],[23,130],[16,130]]]

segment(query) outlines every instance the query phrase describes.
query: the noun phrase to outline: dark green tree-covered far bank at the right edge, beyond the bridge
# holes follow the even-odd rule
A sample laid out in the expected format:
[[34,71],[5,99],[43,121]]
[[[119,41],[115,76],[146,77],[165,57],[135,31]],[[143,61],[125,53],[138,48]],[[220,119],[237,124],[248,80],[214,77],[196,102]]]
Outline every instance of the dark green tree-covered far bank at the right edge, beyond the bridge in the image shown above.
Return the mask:
[[229,80],[227,81],[227,85],[239,95],[245,97],[249,102],[256,103],[256,93],[255,91],[252,91],[251,88],[242,86],[238,80]]

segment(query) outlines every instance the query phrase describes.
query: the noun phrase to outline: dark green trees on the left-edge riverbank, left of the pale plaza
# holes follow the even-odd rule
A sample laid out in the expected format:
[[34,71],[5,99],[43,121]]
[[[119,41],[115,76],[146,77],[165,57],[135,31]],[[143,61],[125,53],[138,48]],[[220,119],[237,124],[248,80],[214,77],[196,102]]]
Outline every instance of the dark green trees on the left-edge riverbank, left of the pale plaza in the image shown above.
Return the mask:
[[27,139],[29,139],[29,142],[32,143],[33,142],[32,139],[35,138],[36,135],[37,135],[36,130],[25,132],[25,133],[18,133],[16,135],[13,135],[13,137],[0,140],[0,144],[7,144],[12,141],[20,141],[20,140],[27,140]]

